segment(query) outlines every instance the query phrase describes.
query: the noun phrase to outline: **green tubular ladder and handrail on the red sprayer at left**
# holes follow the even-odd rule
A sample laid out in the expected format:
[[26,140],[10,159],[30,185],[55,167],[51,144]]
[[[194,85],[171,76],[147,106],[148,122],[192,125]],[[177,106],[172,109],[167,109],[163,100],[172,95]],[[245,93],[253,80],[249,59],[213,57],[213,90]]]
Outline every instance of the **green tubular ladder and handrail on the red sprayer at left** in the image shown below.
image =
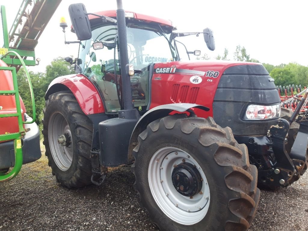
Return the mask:
[[21,113],[21,107],[20,107],[20,101],[19,101],[16,68],[15,67],[0,67],[0,70],[8,70],[8,71],[12,72],[13,86],[14,86],[14,90],[0,91],[0,95],[15,95],[15,102],[16,102],[16,113],[2,114],[2,115],[0,115],[0,118],[13,117],[13,116],[18,117],[18,128],[19,128],[19,132],[0,135],[0,141],[14,140],[14,153],[15,153],[14,168],[8,174],[0,173],[0,182],[5,182],[5,181],[8,181],[8,180],[11,180],[15,176],[17,176],[17,174],[19,173],[21,166],[22,166],[21,138],[25,135],[25,129],[23,128],[23,124],[31,124],[36,120],[33,88],[32,88],[31,79],[30,79],[29,73],[26,69],[26,65],[25,65],[24,61],[22,60],[20,55],[15,51],[7,52],[5,55],[3,55],[1,57],[1,59],[2,60],[5,59],[6,55],[9,55],[11,53],[13,53],[14,55],[16,55],[18,57],[22,66],[25,69],[26,76],[27,76],[28,83],[29,83],[29,87],[30,87],[32,109],[33,109],[33,119],[31,121],[22,121],[22,113]]

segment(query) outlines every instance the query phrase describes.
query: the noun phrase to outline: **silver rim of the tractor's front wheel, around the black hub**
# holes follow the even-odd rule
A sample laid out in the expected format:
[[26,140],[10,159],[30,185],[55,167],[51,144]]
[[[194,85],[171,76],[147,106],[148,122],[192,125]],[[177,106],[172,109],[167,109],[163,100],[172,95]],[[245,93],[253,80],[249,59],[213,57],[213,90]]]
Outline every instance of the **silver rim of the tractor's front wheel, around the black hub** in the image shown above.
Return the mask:
[[[195,165],[203,179],[200,193],[193,197],[181,195],[172,183],[173,168],[183,160]],[[158,207],[167,217],[179,224],[196,224],[209,210],[210,190],[205,173],[198,162],[180,148],[164,147],[153,154],[148,167],[148,182]]]

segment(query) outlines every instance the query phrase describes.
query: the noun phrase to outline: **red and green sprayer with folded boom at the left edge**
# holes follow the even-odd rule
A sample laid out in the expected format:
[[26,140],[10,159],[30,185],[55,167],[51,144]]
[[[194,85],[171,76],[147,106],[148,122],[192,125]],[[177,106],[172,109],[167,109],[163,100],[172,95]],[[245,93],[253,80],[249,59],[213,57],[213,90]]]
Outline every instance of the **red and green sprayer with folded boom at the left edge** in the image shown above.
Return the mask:
[[[34,48],[60,2],[23,0],[10,30],[5,7],[1,6],[4,45],[0,49],[0,182],[13,179],[22,164],[41,157],[34,95],[26,66],[39,62],[35,60]],[[21,67],[30,87],[32,118],[26,114],[18,92],[16,73]]]

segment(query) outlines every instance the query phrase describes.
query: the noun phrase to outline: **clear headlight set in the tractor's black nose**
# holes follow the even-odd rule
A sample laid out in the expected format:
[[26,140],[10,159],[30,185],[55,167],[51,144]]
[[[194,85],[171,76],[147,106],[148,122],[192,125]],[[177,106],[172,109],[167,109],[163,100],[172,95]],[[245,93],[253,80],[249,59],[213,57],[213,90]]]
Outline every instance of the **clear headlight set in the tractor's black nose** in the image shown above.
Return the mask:
[[280,117],[280,104],[271,106],[262,106],[251,104],[247,107],[245,120],[268,120]]

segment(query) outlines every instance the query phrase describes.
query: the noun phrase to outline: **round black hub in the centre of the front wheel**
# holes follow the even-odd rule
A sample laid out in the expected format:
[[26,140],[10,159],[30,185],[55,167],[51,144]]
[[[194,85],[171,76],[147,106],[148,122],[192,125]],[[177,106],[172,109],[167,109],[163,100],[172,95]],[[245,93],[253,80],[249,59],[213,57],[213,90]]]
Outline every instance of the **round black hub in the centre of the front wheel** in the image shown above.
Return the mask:
[[172,171],[172,183],[178,193],[192,197],[202,188],[202,177],[198,169],[190,163],[181,163]]

